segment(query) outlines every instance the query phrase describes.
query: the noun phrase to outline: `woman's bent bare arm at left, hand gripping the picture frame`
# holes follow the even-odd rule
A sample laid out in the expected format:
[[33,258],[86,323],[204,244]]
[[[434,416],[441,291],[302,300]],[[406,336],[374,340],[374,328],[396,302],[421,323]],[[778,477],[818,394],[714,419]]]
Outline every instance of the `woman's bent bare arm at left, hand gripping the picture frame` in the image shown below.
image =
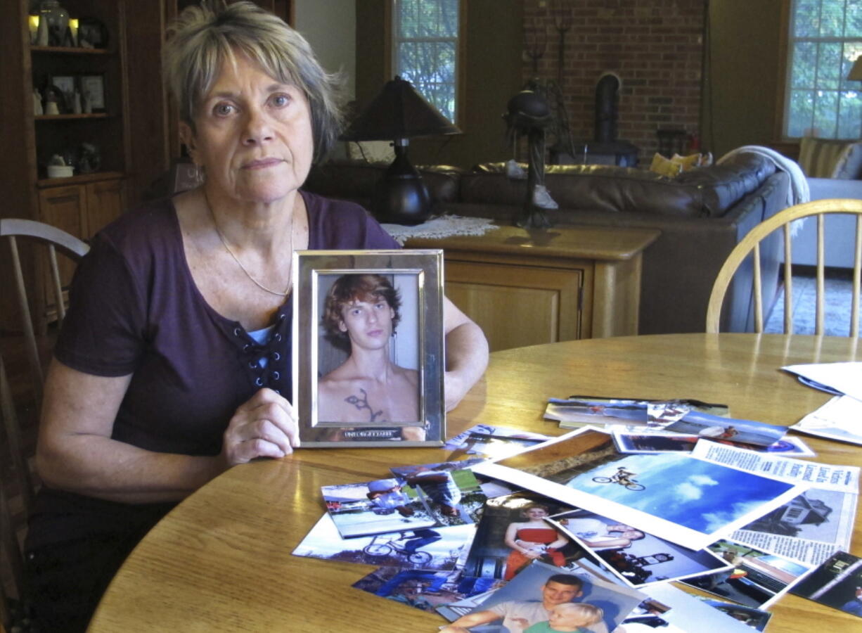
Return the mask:
[[289,416],[278,411],[280,397],[269,390],[236,411],[220,455],[156,453],[112,440],[130,380],[131,375],[105,378],[78,372],[53,360],[36,447],[36,467],[47,486],[125,503],[175,501],[229,466],[290,452]]

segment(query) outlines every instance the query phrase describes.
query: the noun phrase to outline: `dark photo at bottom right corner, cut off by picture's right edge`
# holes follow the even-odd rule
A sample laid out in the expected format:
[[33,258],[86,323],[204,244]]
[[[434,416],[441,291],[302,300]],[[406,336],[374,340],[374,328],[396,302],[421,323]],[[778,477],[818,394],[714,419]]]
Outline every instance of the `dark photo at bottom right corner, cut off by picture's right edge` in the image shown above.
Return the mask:
[[790,593],[862,617],[862,559],[835,552]]

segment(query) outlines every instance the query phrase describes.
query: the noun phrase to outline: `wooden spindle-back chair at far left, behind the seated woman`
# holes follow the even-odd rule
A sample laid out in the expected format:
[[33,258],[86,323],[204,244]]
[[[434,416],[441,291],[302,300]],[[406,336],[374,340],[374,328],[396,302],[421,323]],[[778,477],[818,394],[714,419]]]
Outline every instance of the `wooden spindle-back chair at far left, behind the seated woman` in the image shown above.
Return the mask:
[[[47,262],[37,263],[36,266],[26,266],[28,263],[18,248],[18,238],[33,241],[35,245],[47,254]],[[43,264],[47,263],[47,273],[51,279],[53,289],[53,300],[55,314],[58,322],[66,316],[66,309],[61,284],[60,266],[57,260],[57,252],[65,254],[72,262],[77,263],[81,257],[90,249],[83,241],[69,235],[65,231],[55,229],[41,222],[18,219],[0,219],[0,241],[9,245],[9,260],[11,262],[11,273],[16,286],[17,310],[22,330],[23,355],[26,357],[30,367],[31,391],[35,398],[38,411],[41,404],[42,394],[42,365],[39,352],[39,344],[36,337],[36,329],[31,316],[30,300],[28,297],[28,285],[25,282],[25,268],[30,270],[34,267],[36,274],[43,272]],[[8,293],[6,296],[10,296]],[[35,302],[39,303],[39,302]],[[19,338],[15,337],[16,342]],[[7,356],[9,358],[9,356]],[[19,380],[16,377],[16,385]],[[17,390],[21,391],[21,390]],[[0,550],[2,550],[3,561],[6,569],[3,578],[14,586],[17,597],[21,597],[22,581],[22,549],[19,538],[18,525],[21,520],[16,520],[16,514],[27,517],[33,507],[35,495],[34,478],[30,472],[29,460],[22,440],[22,427],[19,423],[18,411],[22,403],[16,403],[13,385],[9,382],[7,365],[0,353],[0,414],[3,417],[3,434],[6,446],[0,450]],[[38,418],[37,415],[34,417]],[[0,623],[11,628],[11,613],[9,612],[9,598],[6,586],[0,582]]]

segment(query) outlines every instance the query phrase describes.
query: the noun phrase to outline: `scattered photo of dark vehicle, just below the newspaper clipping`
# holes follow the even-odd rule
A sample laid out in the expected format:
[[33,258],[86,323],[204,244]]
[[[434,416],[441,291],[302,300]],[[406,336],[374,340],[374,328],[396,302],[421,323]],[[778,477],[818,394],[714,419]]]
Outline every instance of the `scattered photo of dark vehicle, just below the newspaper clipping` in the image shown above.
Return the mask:
[[725,539],[714,542],[709,549],[732,567],[690,578],[685,583],[756,609],[773,604],[810,569],[784,556]]

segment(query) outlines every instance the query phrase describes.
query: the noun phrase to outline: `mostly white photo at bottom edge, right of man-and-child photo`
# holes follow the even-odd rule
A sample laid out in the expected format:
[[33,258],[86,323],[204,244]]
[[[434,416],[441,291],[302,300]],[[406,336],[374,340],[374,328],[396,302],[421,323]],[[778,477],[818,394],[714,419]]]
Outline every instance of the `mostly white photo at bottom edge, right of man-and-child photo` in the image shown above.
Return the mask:
[[623,622],[625,633],[751,633],[735,617],[706,605],[670,583],[656,583],[641,590],[649,599],[634,608]]

